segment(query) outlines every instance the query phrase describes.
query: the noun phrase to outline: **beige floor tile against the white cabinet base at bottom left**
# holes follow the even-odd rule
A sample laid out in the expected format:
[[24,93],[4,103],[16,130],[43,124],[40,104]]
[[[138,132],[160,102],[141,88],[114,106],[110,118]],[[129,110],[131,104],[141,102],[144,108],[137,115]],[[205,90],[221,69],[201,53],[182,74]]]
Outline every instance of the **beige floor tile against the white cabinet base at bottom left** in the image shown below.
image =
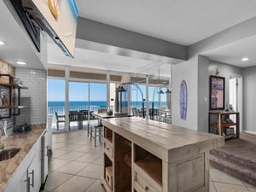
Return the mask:
[[44,190],[52,191],[53,189],[67,181],[67,179],[70,177],[72,177],[72,175],[59,172],[52,172],[51,174],[49,174],[47,178],[47,181],[44,185]]

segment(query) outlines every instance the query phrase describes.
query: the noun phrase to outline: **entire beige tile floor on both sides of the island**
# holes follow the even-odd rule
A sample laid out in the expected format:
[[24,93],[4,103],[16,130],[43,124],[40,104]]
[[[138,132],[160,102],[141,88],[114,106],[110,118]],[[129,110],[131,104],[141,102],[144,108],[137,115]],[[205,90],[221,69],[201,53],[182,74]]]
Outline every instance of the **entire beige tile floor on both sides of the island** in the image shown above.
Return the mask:
[[[49,176],[41,192],[103,192],[102,144],[90,142],[85,130],[54,134]],[[256,187],[210,168],[210,192],[256,192]]]

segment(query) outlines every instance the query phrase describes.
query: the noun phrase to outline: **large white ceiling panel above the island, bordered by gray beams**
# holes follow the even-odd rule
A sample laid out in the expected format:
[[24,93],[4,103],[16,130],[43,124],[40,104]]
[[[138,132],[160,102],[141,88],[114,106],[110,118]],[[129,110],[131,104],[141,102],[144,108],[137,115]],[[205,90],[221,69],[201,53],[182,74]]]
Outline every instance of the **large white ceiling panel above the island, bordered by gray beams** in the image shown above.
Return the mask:
[[256,15],[254,0],[77,0],[79,15],[190,45]]

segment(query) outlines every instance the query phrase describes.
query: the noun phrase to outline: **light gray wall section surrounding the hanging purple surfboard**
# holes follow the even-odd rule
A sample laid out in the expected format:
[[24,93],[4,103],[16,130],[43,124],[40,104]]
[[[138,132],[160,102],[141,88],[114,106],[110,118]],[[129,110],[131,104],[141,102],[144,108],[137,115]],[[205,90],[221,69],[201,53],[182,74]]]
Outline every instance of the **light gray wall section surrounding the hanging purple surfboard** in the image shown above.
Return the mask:
[[[197,130],[198,56],[172,66],[172,124]],[[180,118],[179,94],[182,80],[187,83],[187,117]]]

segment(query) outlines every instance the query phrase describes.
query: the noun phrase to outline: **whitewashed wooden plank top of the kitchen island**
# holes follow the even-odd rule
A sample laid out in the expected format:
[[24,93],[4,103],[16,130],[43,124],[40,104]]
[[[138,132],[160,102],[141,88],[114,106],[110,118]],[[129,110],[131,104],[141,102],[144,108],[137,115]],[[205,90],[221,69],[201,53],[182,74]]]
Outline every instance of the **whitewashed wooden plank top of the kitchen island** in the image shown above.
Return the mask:
[[224,146],[224,137],[150,119],[102,119],[102,124],[167,163]]

